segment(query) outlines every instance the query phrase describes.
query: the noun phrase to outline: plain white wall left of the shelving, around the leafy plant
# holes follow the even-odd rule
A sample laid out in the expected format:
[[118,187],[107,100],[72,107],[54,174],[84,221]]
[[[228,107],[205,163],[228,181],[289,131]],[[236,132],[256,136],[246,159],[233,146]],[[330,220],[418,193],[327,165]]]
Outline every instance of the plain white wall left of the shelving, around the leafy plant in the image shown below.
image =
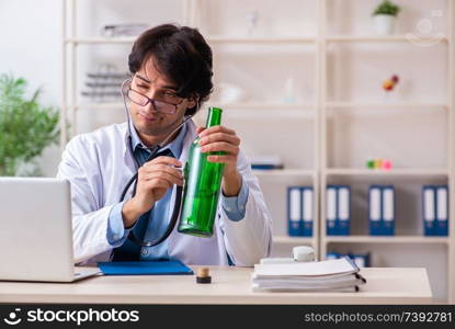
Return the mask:
[[[61,103],[61,1],[0,1],[0,73],[25,78],[32,92],[43,88],[42,103]],[[43,171],[54,175],[58,147],[45,151]]]

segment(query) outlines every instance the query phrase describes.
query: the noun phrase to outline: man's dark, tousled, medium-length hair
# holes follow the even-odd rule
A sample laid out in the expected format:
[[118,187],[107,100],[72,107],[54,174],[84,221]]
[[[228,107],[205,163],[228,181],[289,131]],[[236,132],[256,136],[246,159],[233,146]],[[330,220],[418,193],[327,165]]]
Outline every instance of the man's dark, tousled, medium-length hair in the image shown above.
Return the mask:
[[145,31],[133,45],[128,57],[129,71],[136,73],[152,57],[157,70],[178,87],[177,95],[195,97],[198,106],[213,90],[212,49],[196,29],[163,24]]

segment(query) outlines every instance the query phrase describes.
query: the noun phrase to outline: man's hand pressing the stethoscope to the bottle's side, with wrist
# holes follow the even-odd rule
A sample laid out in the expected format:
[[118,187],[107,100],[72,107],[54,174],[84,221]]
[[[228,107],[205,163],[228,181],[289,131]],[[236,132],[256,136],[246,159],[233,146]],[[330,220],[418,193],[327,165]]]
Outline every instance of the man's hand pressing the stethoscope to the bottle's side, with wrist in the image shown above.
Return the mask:
[[182,162],[171,157],[158,157],[138,170],[136,195],[122,208],[125,228],[132,227],[140,215],[151,209],[174,184],[183,185]]

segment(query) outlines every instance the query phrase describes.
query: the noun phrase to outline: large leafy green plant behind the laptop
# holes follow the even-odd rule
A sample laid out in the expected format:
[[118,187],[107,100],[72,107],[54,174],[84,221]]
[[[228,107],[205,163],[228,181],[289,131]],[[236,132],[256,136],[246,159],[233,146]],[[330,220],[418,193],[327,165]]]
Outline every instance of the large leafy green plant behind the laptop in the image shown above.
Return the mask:
[[37,175],[35,159],[58,141],[58,112],[26,97],[26,81],[0,76],[0,175]]

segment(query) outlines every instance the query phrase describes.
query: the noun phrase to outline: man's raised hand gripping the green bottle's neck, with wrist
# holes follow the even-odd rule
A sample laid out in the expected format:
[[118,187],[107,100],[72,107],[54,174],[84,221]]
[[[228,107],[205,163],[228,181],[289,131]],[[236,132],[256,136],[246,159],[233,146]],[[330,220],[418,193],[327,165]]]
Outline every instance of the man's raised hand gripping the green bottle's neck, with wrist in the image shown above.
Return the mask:
[[200,145],[203,152],[224,151],[223,156],[208,156],[211,162],[225,163],[223,172],[223,194],[237,196],[241,188],[241,177],[237,170],[237,158],[240,151],[240,138],[236,132],[224,126],[214,126],[208,129],[197,127]]

